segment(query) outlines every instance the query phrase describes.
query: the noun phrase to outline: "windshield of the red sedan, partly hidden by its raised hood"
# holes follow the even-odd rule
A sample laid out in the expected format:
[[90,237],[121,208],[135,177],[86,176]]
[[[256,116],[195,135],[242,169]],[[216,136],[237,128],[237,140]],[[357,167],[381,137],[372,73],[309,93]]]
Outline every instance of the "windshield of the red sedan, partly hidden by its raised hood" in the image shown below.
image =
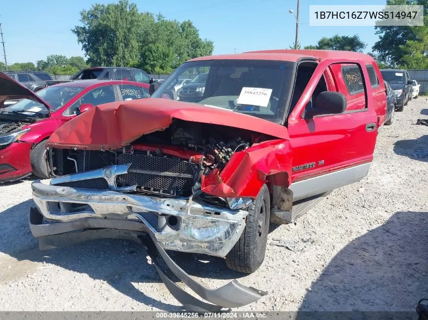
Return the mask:
[[[49,86],[37,91],[35,94],[46,101],[51,106],[51,111],[55,111],[64,106],[75,95],[80,93],[83,88],[68,86]],[[47,114],[48,109],[38,101],[22,99],[14,105],[2,109],[3,112],[28,112],[28,115],[34,113]]]

